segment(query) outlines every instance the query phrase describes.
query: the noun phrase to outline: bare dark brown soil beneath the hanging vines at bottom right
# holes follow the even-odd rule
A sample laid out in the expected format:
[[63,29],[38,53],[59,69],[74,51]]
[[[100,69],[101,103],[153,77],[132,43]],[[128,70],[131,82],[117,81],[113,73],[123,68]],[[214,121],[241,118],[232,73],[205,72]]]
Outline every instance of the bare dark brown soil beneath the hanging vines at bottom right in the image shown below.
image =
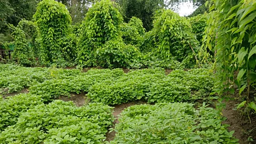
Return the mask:
[[[229,124],[229,131],[235,131],[233,134],[239,139],[240,144],[255,144],[256,143],[256,115],[251,115],[251,123],[247,114],[242,115],[241,111],[236,110],[240,102],[237,100],[229,100],[226,102],[226,109],[223,109],[223,116],[227,117],[224,124]],[[250,114],[249,114],[250,115]],[[247,140],[249,138],[249,140]],[[250,140],[254,140],[251,141]]]

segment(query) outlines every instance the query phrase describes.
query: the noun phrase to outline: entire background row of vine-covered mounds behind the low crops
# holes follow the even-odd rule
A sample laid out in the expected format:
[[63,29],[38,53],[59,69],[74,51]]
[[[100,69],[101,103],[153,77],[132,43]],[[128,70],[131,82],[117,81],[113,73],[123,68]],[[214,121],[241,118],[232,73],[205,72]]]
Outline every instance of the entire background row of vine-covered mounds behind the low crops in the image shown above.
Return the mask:
[[[74,19],[81,19],[81,15],[74,15],[75,5],[94,2],[88,12],[86,6],[83,8],[86,12],[81,13],[86,15],[82,24],[78,22],[71,26],[70,14]],[[198,42],[188,20],[170,10],[159,10],[173,5],[173,2],[138,2],[138,6],[148,5],[145,9],[151,13],[149,23],[153,30],[145,33],[143,20],[146,17],[132,15],[129,22],[123,21],[123,9],[120,10],[117,3],[124,8],[126,4],[131,4],[126,1],[44,0],[37,6],[35,22],[27,22],[26,25],[29,25],[26,28],[23,25],[12,27],[13,42],[10,39],[6,42],[7,32],[0,35],[3,38],[0,47],[9,49],[14,43],[12,58],[23,66],[194,68]],[[158,12],[153,17],[155,10]],[[182,27],[179,27],[180,23]]]

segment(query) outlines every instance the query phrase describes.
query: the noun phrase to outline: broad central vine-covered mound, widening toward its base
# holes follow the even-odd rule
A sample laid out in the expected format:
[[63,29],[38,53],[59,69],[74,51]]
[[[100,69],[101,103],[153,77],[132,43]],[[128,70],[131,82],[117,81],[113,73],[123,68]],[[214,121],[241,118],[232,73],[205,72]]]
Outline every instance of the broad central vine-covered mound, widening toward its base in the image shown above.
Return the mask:
[[130,53],[137,51],[123,43],[123,18],[114,4],[110,0],[102,0],[86,14],[78,40],[79,65],[124,67],[129,63]]

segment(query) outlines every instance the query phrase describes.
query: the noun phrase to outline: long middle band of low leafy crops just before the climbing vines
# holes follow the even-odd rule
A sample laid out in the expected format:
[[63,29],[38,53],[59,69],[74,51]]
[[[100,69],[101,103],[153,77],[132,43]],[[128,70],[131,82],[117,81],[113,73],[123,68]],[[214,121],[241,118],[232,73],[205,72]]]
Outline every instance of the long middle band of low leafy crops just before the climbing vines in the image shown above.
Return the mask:
[[0,66],[1,78],[5,79],[0,83],[2,89],[14,92],[27,87],[31,94],[41,95],[44,102],[61,95],[70,96],[71,92],[88,92],[91,101],[109,105],[140,99],[149,102],[209,99],[206,96],[212,91],[214,78],[208,69],[174,70],[166,75],[164,69],[131,70],[125,74],[122,69],[91,69],[81,73],[56,68]]

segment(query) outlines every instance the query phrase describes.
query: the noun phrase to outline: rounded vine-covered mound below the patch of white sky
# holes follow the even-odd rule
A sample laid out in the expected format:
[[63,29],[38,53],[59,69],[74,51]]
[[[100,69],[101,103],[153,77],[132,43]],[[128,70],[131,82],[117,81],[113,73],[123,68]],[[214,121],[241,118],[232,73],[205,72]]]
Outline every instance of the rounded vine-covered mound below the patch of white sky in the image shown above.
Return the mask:
[[163,10],[155,18],[153,31],[159,57],[175,57],[179,61],[193,59],[198,41],[189,21],[171,10]]

